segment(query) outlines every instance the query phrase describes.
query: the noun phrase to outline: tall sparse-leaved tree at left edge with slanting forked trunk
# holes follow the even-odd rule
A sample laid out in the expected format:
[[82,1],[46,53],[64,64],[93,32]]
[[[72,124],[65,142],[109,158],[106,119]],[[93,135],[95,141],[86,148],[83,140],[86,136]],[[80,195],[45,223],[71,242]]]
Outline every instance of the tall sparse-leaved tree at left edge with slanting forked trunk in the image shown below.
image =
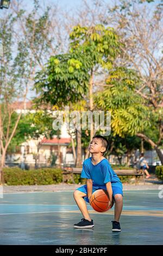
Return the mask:
[[[1,20],[0,37],[3,45],[1,58],[0,86],[0,140],[1,165],[5,163],[5,154],[17,129],[21,112],[11,129],[11,119],[15,112],[15,103],[23,101],[26,109],[26,97],[29,87],[33,84],[34,74],[38,67],[43,68],[50,52],[57,49],[54,34],[51,33],[49,8],[40,11],[39,1],[34,0],[31,13],[26,13],[20,5],[11,4],[11,13],[5,14]],[[52,43],[53,41],[53,43]],[[55,42],[55,43],[54,43]],[[52,46],[53,44],[53,46]],[[4,133],[4,119],[8,121],[7,133]],[[10,134],[10,136],[9,136]]]

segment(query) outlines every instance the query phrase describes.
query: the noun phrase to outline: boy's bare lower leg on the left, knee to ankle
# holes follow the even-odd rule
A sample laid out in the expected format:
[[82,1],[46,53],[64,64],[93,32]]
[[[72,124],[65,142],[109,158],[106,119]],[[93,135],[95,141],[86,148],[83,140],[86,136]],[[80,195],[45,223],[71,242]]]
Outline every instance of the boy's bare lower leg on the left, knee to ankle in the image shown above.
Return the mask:
[[85,200],[83,199],[83,197],[85,197],[85,196],[86,196],[86,194],[79,191],[79,190],[76,190],[73,193],[74,200],[76,200],[76,203],[77,203],[80,211],[82,212],[83,217],[85,219],[87,219],[88,221],[91,221],[89,212],[88,212],[87,207],[86,207]]

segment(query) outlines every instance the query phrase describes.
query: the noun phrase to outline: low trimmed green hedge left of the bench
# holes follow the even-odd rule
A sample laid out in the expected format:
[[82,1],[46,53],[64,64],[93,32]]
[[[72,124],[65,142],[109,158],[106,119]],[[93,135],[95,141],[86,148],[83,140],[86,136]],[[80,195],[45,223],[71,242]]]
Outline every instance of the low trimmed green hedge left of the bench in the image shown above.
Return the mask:
[[4,182],[8,185],[47,185],[62,182],[61,169],[40,168],[22,170],[20,168],[4,168]]

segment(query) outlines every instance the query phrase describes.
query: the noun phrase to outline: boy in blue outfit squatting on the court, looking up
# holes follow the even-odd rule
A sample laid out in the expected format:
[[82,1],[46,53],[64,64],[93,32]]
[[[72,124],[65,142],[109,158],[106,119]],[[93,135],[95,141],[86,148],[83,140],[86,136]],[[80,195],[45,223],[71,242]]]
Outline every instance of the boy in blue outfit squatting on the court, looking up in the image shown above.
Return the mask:
[[79,187],[74,192],[74,199],[82,212],[83,219],[74,228],[92,228],[93,220],[87,211],[86,203],[89,203],[90,197],[97,189],[105,189],[109,194],[109,205],[112,207],[115,201],[115,216],[112,221],[112,231],[121,231],[120,216],[123,206],[122,182],[112,170],[108,160],[103,157],[108,148],[108,140],[101,135],[93,137],[89,152],[92,157],[86,159],[83,163],[82,178],[86,178],[86,184]]

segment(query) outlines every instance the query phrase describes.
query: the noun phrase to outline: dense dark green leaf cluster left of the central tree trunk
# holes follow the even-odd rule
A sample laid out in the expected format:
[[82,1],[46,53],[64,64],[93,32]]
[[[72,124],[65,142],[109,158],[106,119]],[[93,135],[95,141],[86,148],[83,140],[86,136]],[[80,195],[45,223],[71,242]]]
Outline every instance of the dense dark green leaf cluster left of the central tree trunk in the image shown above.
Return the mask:
[[52,56],[45,69],[37,73],[36,92],[41,102],[64,106],[82,99],[89,82],[89,59],[78,53]]

